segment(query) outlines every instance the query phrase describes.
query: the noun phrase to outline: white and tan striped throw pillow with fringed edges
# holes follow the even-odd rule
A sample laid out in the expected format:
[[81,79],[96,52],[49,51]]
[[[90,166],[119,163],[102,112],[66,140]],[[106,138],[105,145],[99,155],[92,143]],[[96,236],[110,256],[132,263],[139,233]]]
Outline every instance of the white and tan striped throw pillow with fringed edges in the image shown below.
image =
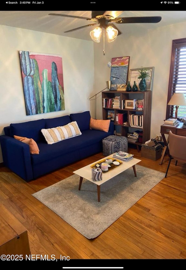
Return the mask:
[[45,137],[47,144],[54,144],[82,134],[76,121],[56,128],[43,128],[41,132]]

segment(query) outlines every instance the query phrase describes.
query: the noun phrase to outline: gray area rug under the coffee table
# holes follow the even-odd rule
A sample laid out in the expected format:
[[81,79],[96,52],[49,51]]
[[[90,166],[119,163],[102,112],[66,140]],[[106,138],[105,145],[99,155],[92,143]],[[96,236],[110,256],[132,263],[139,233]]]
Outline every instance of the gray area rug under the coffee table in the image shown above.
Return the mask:
[[85,180],[81,190],[79,176],[70,176],[50,187],[32,194],[58,214],[79,233],[92,239],[100,235],[132,205],[157,185],[164,173],[135,165],[101,185],[101,201],[97,185]]

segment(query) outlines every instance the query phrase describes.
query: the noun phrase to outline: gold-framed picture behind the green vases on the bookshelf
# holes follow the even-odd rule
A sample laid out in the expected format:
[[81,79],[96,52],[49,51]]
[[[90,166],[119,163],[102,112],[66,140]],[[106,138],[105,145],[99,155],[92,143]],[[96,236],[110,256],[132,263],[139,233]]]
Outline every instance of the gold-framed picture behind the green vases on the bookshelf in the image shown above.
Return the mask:
[[[129,74],[129,81],[130,81],[130,85],[131,87],[133,87],[134,81],[136,82],[138,91],[140,91],[139,88],[139,83],[141,81],[141,79],[138,79],[137,77],[140,75],[139,70],[140,68],[136,68],[136,69],[130,69],[130,74]],[[149,76],[145,78],[146,81],[146,91],[151,91],[151,87],[152,87],[152,80],[153,80],[153,74],[154,74],[154,67],[146,67],[146,69],[148,69],[148,74]]]

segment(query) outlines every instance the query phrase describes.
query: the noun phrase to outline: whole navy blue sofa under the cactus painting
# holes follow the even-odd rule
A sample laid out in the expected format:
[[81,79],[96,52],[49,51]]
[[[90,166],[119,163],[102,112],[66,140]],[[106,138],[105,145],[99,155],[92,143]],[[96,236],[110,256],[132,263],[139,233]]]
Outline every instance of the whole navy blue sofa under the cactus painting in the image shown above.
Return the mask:
[[[47,144],[42,128],[55,128],[76,121],[82,135],[54,144]],[[73,113],[51,119],[40,119],[24,123],[10,124],[0,136],[3,163],[25,181],[64,167],[87,156],[102,152],[102,139],[114,134],[110,121],[108,133],[90,129],[90,112]],[[32,138],[39,147],[39,155],[30,154],[29,145],[13,136]]]

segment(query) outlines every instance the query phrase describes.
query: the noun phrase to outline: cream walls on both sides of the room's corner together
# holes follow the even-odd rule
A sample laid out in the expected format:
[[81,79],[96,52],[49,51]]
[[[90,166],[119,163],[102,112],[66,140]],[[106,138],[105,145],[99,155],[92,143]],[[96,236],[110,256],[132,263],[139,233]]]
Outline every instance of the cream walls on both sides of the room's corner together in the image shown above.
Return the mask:
[[[160,133],[166,113],[171,44],[186,37],[186,23],[146,31],[131,28],[114,42],[84,41],[47,33],[0,25],[0,134],[10,123],[67,115],[90,110],[89,97],[106,87],[110,79],[107,63],[114,57],[130,56],[129,69],[154,67],[152,92],[151,137]],[[64,71],[65,111],[26,116],[18,51],[60,54]],[[102,118],[101,94],[97,95],[97,118]],[[0,150],[0,162],[2,162]]]

